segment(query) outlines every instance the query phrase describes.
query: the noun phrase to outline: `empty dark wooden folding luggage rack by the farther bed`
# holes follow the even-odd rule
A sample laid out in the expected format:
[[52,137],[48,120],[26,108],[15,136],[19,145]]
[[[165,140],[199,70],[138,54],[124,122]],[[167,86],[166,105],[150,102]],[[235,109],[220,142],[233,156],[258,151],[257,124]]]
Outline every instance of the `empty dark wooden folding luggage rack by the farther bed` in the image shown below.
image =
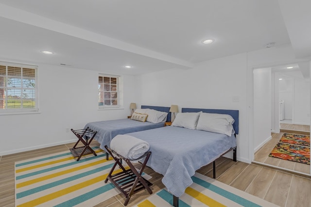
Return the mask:
[[[89,146],[89,144],[92,142],[95,135],[97,134],[97,131],[93,131],[89,127],[78,130],[71,129],[71,131],[79,139],[75,143],[75,145],[70,149],[70,152],[73,155],[73,157],[78,157],[77,161],[79,161],[83,155],[94,154],[94,156],[97,156],[95,151]],[[83,143],[84,146],[76,147],[79,142]]]

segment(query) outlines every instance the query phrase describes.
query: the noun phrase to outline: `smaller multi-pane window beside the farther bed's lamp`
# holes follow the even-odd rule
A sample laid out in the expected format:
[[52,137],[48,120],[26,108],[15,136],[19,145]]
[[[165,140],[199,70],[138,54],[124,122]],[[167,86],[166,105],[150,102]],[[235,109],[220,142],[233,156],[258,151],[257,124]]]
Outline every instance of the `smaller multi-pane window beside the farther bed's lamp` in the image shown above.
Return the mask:
[[119,76],[98,76],[98,107],[120,107]]

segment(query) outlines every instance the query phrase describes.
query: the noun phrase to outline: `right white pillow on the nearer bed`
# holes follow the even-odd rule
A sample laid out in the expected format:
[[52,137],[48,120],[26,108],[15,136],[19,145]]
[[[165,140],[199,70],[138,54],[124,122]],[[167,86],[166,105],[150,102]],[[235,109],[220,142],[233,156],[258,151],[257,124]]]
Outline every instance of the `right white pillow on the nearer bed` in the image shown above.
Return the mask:
[[201,113],[196,129],[231,136],[235,133],[234,119],[228,114]]

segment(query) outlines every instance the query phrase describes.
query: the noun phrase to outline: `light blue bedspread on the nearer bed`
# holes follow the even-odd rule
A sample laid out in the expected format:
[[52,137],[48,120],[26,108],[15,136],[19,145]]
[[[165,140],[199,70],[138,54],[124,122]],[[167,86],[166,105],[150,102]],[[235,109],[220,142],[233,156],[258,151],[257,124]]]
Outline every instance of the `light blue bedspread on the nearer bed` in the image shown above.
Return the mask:
[[202,166],[219,158],[237,145],[234,135],[161,127],[129,135],[147,141],[151,156],[147,166],[163,176],[162,183],[175,196],[181,196],[192,184],[191,176]]

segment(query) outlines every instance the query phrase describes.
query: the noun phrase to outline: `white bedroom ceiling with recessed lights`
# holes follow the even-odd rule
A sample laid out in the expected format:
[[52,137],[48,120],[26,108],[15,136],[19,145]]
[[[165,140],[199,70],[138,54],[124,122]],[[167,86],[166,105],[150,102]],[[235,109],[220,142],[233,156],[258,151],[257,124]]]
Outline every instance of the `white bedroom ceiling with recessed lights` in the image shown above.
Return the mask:
[[[0,0],[0,57],[133,75],[270,42],[292,44],[305,58],[308,8],[310,0]],[[205,38],[215,42],[203,45]]]

